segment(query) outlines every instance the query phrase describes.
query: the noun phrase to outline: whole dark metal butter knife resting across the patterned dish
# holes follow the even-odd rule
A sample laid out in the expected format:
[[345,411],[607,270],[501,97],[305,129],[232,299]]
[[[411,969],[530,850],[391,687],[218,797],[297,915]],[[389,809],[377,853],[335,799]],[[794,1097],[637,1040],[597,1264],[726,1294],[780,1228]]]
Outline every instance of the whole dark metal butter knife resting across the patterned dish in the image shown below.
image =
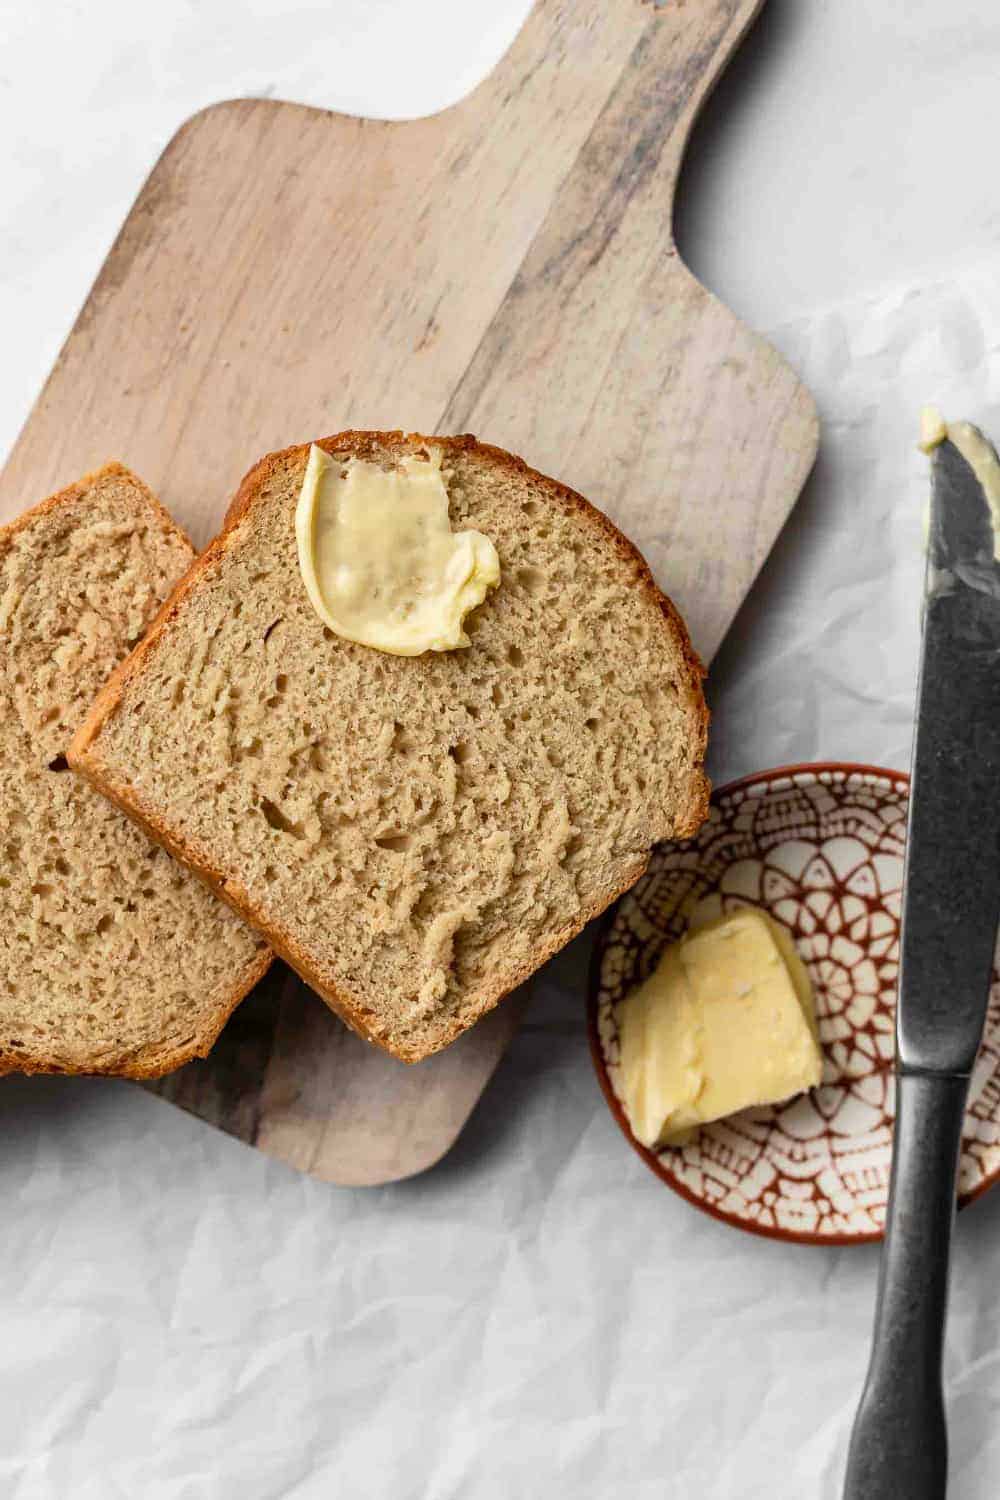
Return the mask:
[[949,1246],[1000,909],[1000,466],[978,429],[946,430],[931,454],[892,1180],[844,1500],[939,1500],[948,1484]]

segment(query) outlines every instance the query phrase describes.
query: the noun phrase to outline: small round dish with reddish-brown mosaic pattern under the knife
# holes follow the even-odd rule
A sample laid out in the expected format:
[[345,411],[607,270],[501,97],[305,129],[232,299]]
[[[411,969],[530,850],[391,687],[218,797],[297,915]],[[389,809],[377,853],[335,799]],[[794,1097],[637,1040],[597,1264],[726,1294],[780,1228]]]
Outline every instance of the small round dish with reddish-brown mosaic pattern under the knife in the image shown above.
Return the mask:
[[[754,1234],[846,1245],[882,1238],[894,1114],[894,1008],[909,777],[865,765],[783,766],[724,786],[697,837],[658,849],[609,914],[589,1029],[610,1110],[648,1167],[705,1212]],[[693,915],[760,906],[810,970],[823,1082],[789,1104],[648,1150],[618,1095],[618,1006]],[[1000,980],[973,1074],[960,1202],[1000,1176]]]

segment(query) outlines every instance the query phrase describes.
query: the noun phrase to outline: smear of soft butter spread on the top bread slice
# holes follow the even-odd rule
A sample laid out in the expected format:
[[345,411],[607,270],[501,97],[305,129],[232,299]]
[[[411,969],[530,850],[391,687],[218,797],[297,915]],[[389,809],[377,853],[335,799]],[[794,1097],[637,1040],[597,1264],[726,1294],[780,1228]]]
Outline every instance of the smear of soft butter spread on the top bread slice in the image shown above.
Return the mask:
[[441,452],[396,468],[337,460],[315,444],[295,510],[313,609],[345,640],[393,656],[468,646],[463,620],[499,584],[481,531],[451,531]]

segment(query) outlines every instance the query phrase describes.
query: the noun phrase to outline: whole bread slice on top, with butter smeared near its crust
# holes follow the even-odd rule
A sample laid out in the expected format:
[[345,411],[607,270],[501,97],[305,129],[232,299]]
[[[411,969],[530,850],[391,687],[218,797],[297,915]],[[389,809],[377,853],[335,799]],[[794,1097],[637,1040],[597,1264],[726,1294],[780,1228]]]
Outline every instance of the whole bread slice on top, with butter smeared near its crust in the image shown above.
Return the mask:
[[418,1060],[703,820],[703,674],[631,543],[520,459],[471,436],[319,446],[442,450],[453,528],[501,558],[471,645],[396,657],[324,627],[295,550],[309,446],[288,448],[69,756],[349,1026]]

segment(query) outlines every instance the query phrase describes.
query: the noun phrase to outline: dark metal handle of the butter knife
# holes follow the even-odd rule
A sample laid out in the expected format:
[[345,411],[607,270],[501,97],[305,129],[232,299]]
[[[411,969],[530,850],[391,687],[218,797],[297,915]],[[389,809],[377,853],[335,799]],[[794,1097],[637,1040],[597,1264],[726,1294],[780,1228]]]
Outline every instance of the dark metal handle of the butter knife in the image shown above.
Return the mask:
[[844,1500],[942,1500],[942,1352],[969,1078],[897,1074],[897,1120],[876,1332]]

